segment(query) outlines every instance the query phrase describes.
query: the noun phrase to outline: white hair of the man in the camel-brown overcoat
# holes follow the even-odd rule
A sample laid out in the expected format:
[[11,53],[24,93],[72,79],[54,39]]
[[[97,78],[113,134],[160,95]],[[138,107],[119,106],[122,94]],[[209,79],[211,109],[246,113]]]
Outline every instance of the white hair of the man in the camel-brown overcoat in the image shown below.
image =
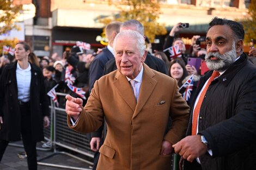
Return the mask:
[[117,36],[115,36],[115,39],[113,42],[114,51],[115,51],[115,45],[117,43],[117,40],[120,39],[121,37],[122,38],[125,37],[126,39],[131,38],[133,40],[136,40],[136,47],[139,51],[139,56],[142,57],[144,55],[145,49],[146,49],[144,37],[138,32],[136,32],[135,30],[130,30],[130,29],[123,30],[120,33],[118,33]]

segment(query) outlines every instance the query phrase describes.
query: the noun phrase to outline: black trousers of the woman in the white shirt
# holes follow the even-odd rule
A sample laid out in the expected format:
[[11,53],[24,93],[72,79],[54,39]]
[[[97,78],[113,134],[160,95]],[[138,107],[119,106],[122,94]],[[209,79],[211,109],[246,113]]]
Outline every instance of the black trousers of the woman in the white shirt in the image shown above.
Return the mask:
[[[27,154],[27,162],[29,170],[37,169],[36,160],[36,142],[32,141],[32,129],[31,129],[31,111],[29,103],[20,104],[21,111],[21,136],[22,142]],[[4,121],[4,120],[3,120]],[[5,149],[8,146],[9,141],[0,141],[0,162],[2,160]]]

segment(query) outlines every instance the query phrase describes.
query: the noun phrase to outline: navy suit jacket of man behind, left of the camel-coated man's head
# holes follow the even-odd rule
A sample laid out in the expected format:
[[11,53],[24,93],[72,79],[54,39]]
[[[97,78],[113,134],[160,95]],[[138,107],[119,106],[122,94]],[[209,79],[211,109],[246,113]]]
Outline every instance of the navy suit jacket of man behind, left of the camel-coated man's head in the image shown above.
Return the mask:
[[102,52],[96,55],[89,69],[89,92],[93,89],[93,85],[103,75],[106,62],[114,58],[114,55],[107,49],[103,48]]

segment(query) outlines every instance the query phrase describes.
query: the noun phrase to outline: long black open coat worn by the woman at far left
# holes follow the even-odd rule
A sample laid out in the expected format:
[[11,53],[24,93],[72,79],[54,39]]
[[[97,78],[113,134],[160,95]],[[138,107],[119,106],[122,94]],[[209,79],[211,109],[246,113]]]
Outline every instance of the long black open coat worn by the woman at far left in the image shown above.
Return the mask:
[[[0,139],[18,141],[21,139],[21,114],[18,102],[16,80],[17,61],[5,66],[0,81]],[[39,67],[31,64],[30,89],[31,129],[34,142],[44,140],[43,118],[49,115],[48,98],[45,92],[44,78]]]

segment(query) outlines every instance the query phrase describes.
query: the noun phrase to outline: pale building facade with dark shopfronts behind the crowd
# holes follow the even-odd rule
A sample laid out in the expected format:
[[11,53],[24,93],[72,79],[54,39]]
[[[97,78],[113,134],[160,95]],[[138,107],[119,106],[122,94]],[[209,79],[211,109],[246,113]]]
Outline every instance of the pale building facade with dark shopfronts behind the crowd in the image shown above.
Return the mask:
[[[25,40],[38,56],[57,53],[62,55],[66,47],[76,41],[90,43],[95,50],[103,47],[104,39],[99,19],[118,14],[114,4],[93,0],[13,0],[23,4],[21,22],[25,24]],[[189,44],[193,35],[205,35],[208,23],[215,16],[231,20],[248,17],[248,0],[160,0],[159,21],[169,31],[178,22],[190,23],[180,37]],[[164,41],[163,36],[156,37]],[[187,40],[187,41],[186,41]],[[161,46],[161,45],[160,45]]]

